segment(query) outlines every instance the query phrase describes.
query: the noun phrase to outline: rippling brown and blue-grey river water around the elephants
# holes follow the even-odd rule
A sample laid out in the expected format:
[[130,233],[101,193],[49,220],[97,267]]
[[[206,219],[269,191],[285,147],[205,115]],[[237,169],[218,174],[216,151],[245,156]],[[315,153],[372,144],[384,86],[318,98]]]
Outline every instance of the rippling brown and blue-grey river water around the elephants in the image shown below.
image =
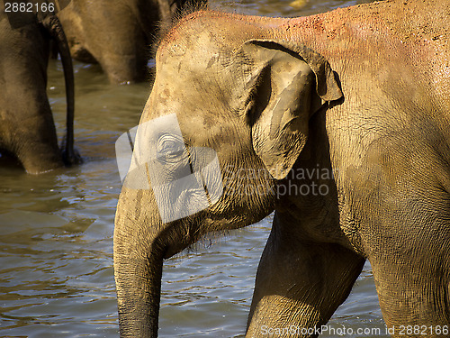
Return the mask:
[[[211,4],[242,14],[300,16],[363,2]],[[76,147],[85,163],[39,177],[0,167],[0,337],[118,336],[112,232],[121,181],[114,142],[139,122],[149,86],[111,86],[98,66],[76,62],[75,68]],[[56,61],[49,64],[49,97],[61,138],[65,98]],[[166,260],[161,337],[244,336],[271,220]],[[325,336],[386,336],[368,264],[329,328],[336,331]]]

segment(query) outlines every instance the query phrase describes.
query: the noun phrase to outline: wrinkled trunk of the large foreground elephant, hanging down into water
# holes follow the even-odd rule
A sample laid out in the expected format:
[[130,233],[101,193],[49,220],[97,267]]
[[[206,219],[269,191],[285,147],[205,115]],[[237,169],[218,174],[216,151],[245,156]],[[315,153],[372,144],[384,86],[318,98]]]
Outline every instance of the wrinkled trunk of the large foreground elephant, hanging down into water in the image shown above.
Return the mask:
[[[124,189],[114,228],[114,275],[121,337],[157,337],[164,246],[161,221],[149,209],[136,211],[146,191]],[[142,202],[143,203],[143,202]]]

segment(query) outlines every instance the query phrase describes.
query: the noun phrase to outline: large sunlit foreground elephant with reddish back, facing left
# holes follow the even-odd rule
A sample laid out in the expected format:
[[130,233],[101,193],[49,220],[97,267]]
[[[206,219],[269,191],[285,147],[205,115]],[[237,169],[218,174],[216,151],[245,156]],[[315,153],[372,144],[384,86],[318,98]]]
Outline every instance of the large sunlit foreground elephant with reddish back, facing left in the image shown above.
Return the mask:
[[317,337],[366,260],[388,333],[448,333],[449,13],[391,0],[176,23],[119,151],[121,337],[157,337],[164,260],[274,211],[246,337]]

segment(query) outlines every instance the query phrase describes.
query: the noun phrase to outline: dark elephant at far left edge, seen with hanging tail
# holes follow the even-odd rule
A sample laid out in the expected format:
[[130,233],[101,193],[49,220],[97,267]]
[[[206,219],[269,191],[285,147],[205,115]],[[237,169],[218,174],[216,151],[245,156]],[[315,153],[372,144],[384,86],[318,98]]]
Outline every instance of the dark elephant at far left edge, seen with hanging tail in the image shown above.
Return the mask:
[[[34,3],[42,9],[37,14],[14,11],[6,4],[0,4],[0,151],[13,155],[30,174],[78,163],[74,150],[74,73],[61,24],[47,10],[46,2]],[[58,148],[46,91],[50,41],[56,42],[66,81],[63,150]]]

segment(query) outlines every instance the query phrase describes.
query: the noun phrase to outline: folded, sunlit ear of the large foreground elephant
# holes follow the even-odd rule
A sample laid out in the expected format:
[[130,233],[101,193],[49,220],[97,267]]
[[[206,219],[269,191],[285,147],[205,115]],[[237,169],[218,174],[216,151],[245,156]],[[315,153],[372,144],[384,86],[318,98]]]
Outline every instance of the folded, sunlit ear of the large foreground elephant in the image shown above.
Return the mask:
[[342,97],[326,59],[304,46],[250,40],[247,123],[253,148],[276,179],[285,178],[308,139],[308,123],[322,105]]

